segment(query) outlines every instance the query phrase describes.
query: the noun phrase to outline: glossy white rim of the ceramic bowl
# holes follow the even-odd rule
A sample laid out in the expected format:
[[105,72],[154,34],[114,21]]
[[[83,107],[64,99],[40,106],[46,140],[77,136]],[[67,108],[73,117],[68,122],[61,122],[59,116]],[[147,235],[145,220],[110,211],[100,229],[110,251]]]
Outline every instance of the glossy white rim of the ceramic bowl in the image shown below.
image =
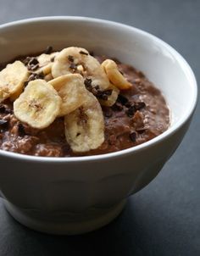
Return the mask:
[[157,36],[154,36],[153,34],[142,31],[141,29],[138,29],[131,25],[125,25],[119,22],[111,21],[108,19],[96,19],[96,18],[90,18],[90,17],[84,17],[84,16],[45,16],[45,17],[36,17],[31,19],[19,19],[16,21],[8,22],[3,25],[0,25],[0,32],[2,29],[5,29],[7,27],[11,26],[17,26],[17,25],[28,25],[31,23],[41,23],[41,22],[52,22],[52,21],[81,21],[81,22],[87,22],[87,23],[95,23],[98,25],[109,25],[109,26],[117,26],[119,28],[125,29],[126,31],[134,31],[136,33],[142,34],[143,36],[147,36],[148,38],[152,39],[152,41],[157,42],[161,47],[164,47],[175,57],[175,59],[178,61],[178,63],[181,65],[182,70],[185,71],[186,76],[188,78],[188,81],[192,85],[193,89],[193,98],[192,103],[190,104],[190,108],[187,109],[186,113],[181,117],[181,120],[175,122],[174,125],[169,126],[169,129],[164,131],[159,136],[154,137],[148,142],[144,142],[140,145],[137,145],[135,147],[129,147],[123,150],[119,150],[117,152],[113,153],[104,153],[99,155],[92,155],[92,156],[81,156],[81,157],[41,157],[41,156],[31,156],[21,153],[12,153],[9,151],[4,151],[0,149],[0,156],[4,157],[10,157],[12,159],[21,159],[24,161],[36,161],[36,162],[53,162],[53,163],[72,163],[72,162],[85,162],[85,161],[98,161],[98,160],[106,160],[106,159],[112,159],[112,158],[119,158],[124,157],[125,155],[129,155],[135,152],[142,151],[146,149],[147,147],[154,146],[158,144],[159,142],[164,141],[169,136],[172,136],[175,134],[176,131],[178,131],[181,126],[183,126],[187,120],[190,119],[192,116],[196,106],[197,106],[197,81],[195,78],[195,75],[192,71],[192,68],[190,65],[186,62],[186,59],[181,56],[180,53],[178,53],[175,48],[171,47],[167,42],[164,42],[163,40],[159,39]]

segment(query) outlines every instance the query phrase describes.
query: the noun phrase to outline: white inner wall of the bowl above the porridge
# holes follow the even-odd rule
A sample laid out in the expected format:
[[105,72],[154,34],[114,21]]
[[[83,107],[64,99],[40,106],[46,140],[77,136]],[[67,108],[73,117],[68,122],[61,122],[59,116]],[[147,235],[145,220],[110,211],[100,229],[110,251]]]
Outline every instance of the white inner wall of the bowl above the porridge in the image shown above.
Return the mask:
[[87,18],[46,18],[19,21],[0,27],[0,59],[37,53],[47,46],[86,47],[97,54],[132,64],[153,81],[171,110],[171,125],[191,111],[195,79],[186,61],[155,36],[126,25]]

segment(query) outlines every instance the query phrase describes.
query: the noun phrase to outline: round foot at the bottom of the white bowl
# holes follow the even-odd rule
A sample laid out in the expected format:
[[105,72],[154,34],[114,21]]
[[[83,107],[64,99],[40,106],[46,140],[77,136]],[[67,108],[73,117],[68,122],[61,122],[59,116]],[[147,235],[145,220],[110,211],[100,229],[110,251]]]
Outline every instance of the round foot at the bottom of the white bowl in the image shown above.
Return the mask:
[[92,208],[84,213],[46,213],[38,210],[20,209],[4,200],[5,208],[19,223],[35,230],[53,235],[79,235],[97,230],[114,220],[125,206],[126,200],[108,209]]

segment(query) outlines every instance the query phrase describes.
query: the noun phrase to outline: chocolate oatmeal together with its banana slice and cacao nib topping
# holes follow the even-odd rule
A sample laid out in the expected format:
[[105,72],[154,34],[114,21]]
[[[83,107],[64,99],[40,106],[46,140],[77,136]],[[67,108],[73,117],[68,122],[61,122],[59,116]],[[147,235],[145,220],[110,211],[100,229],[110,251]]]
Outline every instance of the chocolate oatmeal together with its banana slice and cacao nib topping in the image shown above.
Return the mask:
[[[0,149],[46,157],[96,155],[134,147],[169,128],[164,97],[141,71],[80,49],[67,53],[64,67],[64,50],[54,53],[52,47],[39,57],[20,58],[17,69],[24,76],[17,90],[1,87],[0,75]],[[86,61],[103,67],[105,77]],[[109,73],[115,64],[122,81]],[[45,105],[30,96],[43,89]]]

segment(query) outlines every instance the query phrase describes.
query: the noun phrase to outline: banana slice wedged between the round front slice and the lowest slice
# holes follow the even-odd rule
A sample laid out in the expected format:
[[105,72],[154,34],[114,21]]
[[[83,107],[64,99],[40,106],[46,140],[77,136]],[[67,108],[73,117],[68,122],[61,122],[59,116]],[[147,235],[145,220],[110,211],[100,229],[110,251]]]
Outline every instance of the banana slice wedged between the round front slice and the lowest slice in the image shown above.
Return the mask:
[[84,103],[87,91],[81,75],[61,75],[48,83],[55,88],[59,97],[62,98],[59,116],[69,114]]

